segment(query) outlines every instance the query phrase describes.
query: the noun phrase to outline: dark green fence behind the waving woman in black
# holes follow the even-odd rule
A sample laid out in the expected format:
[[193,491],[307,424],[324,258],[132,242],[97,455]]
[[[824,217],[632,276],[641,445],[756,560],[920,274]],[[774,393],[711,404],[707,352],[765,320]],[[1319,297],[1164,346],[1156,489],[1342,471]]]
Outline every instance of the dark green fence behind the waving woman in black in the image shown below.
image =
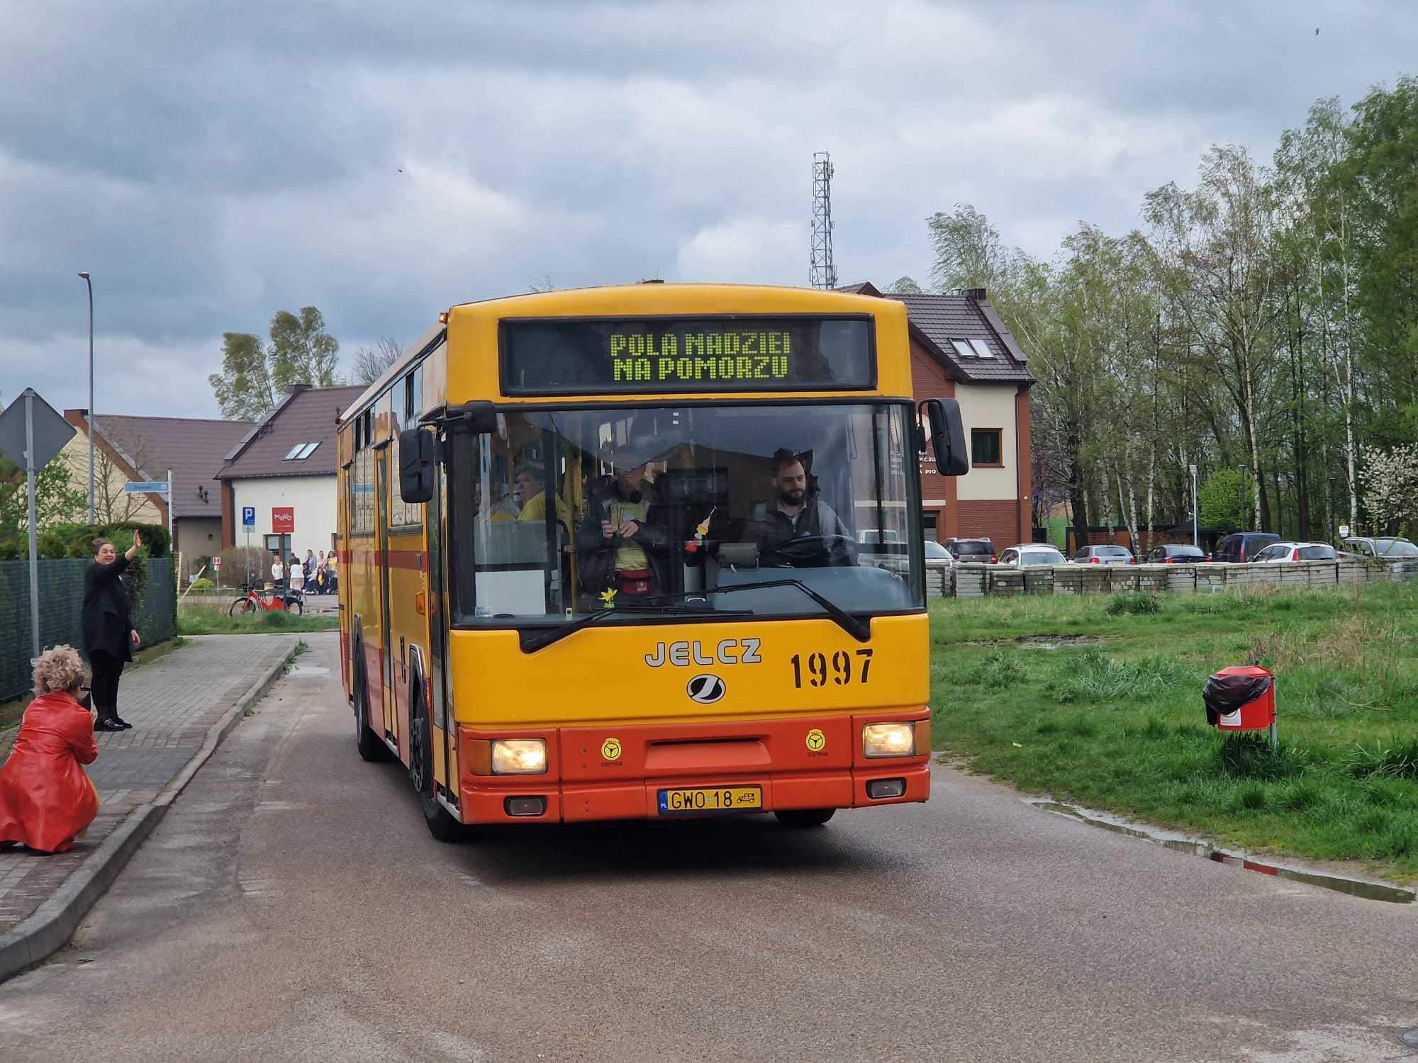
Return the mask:
[[[84,605],[84,570],[92,561],[62,558],[40,561],[40,646],[68,643],[84,652],[79,612]],[[170,557],[146,563],[143,594],[136,602],[138,634],[145,645],[177,634],[177,598]],[[28,693],[30,666],[30,563],[0,561],[0,702]]]

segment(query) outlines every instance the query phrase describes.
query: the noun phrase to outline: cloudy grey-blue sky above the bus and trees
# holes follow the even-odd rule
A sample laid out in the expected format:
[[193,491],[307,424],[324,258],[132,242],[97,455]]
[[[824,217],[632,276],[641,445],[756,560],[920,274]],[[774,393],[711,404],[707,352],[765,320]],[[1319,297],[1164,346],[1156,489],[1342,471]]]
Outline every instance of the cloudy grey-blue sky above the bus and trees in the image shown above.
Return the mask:
[[[1316,34],[1319,30],[1319,34]],[[214,417],[223,332],[342,356],[455,302],[930,272],[973,203],[1051,255],[1215,142],[1418,72],[1418,4],[0,0],[0,403]]]

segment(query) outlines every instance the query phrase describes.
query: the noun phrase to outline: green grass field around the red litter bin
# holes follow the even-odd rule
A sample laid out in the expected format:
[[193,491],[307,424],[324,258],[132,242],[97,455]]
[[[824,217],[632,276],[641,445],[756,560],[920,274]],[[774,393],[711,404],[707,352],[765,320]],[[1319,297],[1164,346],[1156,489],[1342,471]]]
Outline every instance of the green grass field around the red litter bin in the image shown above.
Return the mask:
[[[1418,879],[1418,585],[932,605],[936,746],[1027,791]],[[1201,689],[1278,675],[1280,748]]]

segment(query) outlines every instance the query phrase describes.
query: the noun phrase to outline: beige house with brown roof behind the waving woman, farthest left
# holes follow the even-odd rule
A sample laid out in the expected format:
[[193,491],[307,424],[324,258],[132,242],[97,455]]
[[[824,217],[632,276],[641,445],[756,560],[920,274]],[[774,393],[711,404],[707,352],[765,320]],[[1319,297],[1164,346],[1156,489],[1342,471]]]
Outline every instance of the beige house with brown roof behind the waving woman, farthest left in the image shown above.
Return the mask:
[[[86,495],[89,411],[65,410],[64,418],[78,431],[61,455],[75,486]],[[211,476],[251,428],[250,421],[95,415],[95,519],[166,524],[169,503],[163,495],[128,495],[123,485],[164,480],[170,471],[173,550],[183,554],[183,564],[190,571],[193,560],[221,550],[221,499]]]

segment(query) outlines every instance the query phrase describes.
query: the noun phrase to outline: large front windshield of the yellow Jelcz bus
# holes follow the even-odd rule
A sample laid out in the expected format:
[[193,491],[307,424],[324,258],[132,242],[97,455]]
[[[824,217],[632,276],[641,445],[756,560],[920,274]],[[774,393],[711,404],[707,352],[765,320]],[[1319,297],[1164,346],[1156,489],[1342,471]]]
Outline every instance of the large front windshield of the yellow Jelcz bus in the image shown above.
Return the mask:
[[855,617],[922,609],[910,414],[726,400],[526,410],[495,432],[452,431],[454,622],[824,615],[807,591]]

